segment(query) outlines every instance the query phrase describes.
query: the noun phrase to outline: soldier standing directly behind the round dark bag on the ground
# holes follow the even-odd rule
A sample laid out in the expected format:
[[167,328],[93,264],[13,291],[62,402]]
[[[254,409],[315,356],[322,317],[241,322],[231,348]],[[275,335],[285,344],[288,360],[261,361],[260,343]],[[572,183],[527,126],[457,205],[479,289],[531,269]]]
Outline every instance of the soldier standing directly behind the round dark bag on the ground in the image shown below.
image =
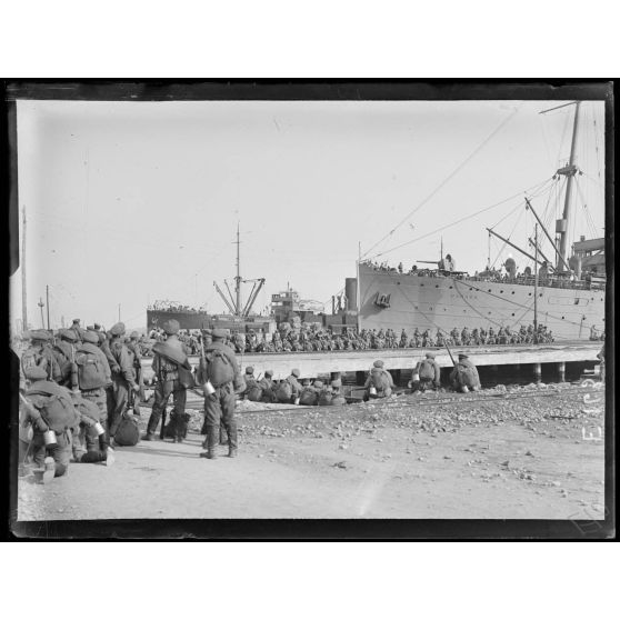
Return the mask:
[[129,390],[139,392],[140,386],[136,382],[132,360],[122,342],[124,323],[118,322],[112,326],[109,334],[111,338],[109,351],[113,364],[110,363],[112,387],[108,392],[108,423],[110,424],[110,437],[114,437],[122,414],[129,404]]

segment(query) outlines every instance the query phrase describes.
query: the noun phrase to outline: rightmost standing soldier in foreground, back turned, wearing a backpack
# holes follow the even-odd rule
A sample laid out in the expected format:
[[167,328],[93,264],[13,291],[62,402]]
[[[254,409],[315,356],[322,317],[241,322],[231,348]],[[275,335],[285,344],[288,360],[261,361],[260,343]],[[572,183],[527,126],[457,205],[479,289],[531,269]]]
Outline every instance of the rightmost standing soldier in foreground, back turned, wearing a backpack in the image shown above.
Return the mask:
[[[237,421],[234,420],[234,393],[244,389],[243,378],[234,351],[223,344],[224,330],[216,329],[213,342],[206,350],[206,361],[200,360],[198,377],[201,384],[210,382],[213,393],[204,397],[204,421],[207,426],[206,452],[200,456],[216,459],[220,422],[228,433],[228,456],[237,457]],[[267,373],[266,373],[267,374]]]

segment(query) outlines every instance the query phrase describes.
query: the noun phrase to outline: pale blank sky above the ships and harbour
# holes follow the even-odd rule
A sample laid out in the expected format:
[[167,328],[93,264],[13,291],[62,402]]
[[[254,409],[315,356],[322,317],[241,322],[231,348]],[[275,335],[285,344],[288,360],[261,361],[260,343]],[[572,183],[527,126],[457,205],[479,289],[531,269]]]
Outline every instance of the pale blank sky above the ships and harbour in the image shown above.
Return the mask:
[[[289,282],[328,301],[354,277],[358,243],[369,256],[408,243],[377,260],[409,268],[438,260],[443,237],[444,253],[473,273],[487,263],[486,227],[527,249],[524,191],[569,156],[573,107],[539,114],[560,103],[19,101],[29,321],[40,327],[46,284],[52,327],[61,317],[109,327],[119,303],[129,327],[143,327],[158,299],[221,312],[212,282],[232,284],[238,221],[242,277],[267,279],[257,310]],[[570,241],[602,236],[604,221],[603,104],[581,110],[586,174]],[[558,191],[532,202],[553,230]],[[496,264],[510,250],[500,248]]]

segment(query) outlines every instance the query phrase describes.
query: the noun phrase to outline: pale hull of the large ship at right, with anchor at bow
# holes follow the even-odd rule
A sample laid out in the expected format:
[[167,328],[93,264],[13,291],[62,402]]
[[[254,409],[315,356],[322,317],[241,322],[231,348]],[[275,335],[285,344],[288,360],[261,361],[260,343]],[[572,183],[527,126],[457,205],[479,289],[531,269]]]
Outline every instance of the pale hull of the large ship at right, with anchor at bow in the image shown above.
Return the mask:
[[[359,268],[361,329],[439,328],[444,332],[467,327],[510,327],[518,330],[534,320],[534,287],[478,278],[416,276]],[[538,287],[539,324],[556,339],[588,340],[590,328],[604,330],[604,290]]]

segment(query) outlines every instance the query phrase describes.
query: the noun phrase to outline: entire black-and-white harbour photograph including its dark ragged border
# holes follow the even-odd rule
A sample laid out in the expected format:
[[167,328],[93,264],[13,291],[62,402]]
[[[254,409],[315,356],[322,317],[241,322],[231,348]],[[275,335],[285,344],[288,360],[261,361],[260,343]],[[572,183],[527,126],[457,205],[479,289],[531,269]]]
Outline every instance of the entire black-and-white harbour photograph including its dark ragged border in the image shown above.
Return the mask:
[[13,531],[612,531],[609,82],[7,93]]

